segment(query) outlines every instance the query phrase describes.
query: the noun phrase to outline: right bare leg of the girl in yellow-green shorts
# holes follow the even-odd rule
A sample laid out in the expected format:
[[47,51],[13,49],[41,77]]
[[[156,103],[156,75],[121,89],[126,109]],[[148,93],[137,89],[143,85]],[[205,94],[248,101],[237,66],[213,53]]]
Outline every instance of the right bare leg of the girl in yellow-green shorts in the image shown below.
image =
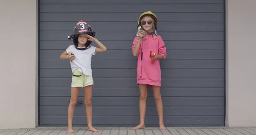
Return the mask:
[[86,111],[86,118],[87,118],[87,130],[92,132],[99,132],[99,130],[93,128],[92,126],[92,91],[93,86],[85,86],[84,87],[84,104],[85,104],[85,111]]

